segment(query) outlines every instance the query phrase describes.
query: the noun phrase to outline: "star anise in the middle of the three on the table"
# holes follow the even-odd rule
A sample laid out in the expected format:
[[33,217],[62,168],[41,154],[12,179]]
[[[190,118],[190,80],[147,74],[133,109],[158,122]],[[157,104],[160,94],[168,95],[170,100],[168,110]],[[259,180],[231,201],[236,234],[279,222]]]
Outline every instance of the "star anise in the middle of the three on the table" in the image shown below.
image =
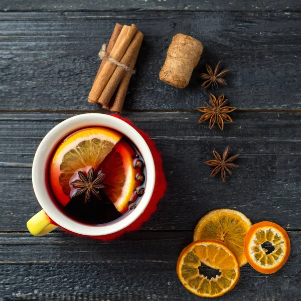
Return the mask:
[[233,112],[236,110],[236,108],[226,106],[228,99],[224,100],[224,94],[216,99],[216,97],[210,93],[209,104],[207,102],[205,103],[207,107],[197,108],[197,110],[205,113],[201,116],[199,123],[202,123],[210,118],[209,127],[212,128],[215,122],[217,122],[219,128],[222,130],[224,128],[224,120],[233,122],[228,113]]

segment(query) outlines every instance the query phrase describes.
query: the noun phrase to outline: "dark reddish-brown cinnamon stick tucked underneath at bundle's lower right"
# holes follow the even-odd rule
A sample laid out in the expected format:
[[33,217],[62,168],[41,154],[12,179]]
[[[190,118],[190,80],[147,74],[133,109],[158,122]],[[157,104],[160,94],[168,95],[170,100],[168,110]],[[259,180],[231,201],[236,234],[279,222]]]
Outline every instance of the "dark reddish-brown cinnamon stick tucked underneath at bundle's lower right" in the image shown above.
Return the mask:
[[[142,38],[143,38],[143,35],[142,35]],[[141,42],[142,42],[142,40],[141,40]],[[130,67],[132,69],[135,67],[140,47],[141,47],[141,44],[139,45],[139,47],[136,47],[135,53],[132,56],[132,60],[128,64],[128,67]],[[117,89],[117,92],[116,92],[114,103],[111,107],[112,112],[121,113],[130,78],[131,78],[131,74],[126,72],[124,74],[123,78],[121,79],[120,84]]]

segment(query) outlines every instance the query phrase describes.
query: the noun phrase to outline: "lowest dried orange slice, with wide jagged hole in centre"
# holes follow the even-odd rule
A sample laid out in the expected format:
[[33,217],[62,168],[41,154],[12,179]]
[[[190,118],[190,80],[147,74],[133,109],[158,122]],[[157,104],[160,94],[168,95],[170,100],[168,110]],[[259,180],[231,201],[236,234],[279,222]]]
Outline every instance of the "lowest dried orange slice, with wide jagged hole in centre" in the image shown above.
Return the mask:
[[[217,269],[220,275],[211,277],[199,272],[202,264]],[[201,297],[218,297],[231,290],[240,275],[234,253],[222,242],[212,239],[198,240],[181,253],[177,273],[182,284]]]

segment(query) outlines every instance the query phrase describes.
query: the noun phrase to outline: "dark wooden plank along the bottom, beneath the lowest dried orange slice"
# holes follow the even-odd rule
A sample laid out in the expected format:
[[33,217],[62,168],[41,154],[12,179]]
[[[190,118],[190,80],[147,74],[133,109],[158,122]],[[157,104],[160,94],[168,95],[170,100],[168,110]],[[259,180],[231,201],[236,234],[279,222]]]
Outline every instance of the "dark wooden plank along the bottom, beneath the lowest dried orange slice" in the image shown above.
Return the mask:
[[[250,265],[223,300],[297,300],[301,296],[300,232],[289,231],[291,254],[275,274]],[[0,234],[4,300],[199,300],[180,283],[176,262],[192,232],[136,232],[103,243],[54,233]]]

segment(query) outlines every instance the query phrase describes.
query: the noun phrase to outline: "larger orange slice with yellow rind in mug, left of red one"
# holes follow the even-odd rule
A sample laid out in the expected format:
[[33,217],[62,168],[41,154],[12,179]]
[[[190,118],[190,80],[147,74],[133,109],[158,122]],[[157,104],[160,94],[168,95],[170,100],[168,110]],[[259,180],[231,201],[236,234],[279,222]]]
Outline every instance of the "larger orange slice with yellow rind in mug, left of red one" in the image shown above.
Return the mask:
[[121,135],[109,128],[90,127],[68,136],[55,150],[49,169],[51,190],[64,207],[70,201],[70,178],[78,170],[95,170],[109,154]]

